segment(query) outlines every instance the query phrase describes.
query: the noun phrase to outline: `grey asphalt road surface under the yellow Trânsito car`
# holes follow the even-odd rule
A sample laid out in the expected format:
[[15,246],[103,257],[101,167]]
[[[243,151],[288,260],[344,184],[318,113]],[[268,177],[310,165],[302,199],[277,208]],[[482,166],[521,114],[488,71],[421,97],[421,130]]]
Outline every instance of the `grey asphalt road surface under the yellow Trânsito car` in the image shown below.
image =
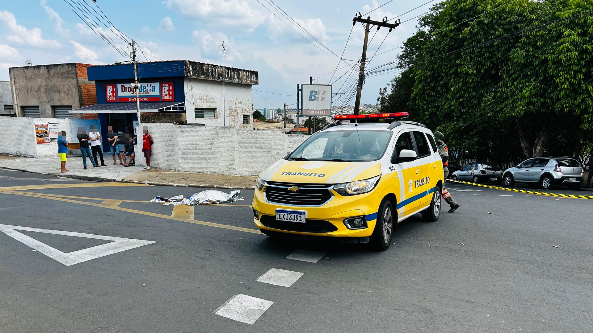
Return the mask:
[[[374,252],[270,240],[251,190],[192,214],[141,201],[202,189],[114,184],[0,171],[0,332],[593,331],[593,200],[451,184],[457,212]],[[260,278],[272,268],[292,273]]]

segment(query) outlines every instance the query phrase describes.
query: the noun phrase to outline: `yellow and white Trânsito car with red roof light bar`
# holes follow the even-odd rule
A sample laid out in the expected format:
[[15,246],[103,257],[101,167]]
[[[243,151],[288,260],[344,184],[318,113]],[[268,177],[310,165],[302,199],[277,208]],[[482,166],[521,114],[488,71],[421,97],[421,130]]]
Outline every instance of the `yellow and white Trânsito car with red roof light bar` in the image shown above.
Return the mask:
[[[334,116],[257,178],[253,219],[269,236],[391,244],[397,223],[441,213],[443,167],[431,130],[407,113]],[[391,123],[365,123],[378,119]],[[352,123],[342,124],[340,121]]]

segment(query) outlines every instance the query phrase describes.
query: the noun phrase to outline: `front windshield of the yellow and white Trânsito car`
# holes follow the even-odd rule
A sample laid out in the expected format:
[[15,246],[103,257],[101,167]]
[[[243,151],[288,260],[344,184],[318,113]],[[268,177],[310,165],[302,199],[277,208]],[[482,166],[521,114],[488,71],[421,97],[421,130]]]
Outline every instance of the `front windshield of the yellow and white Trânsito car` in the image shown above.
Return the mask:
[[385,153],[393,132],[334,130],[317,132],[288,156],[293,161],[368,162]]

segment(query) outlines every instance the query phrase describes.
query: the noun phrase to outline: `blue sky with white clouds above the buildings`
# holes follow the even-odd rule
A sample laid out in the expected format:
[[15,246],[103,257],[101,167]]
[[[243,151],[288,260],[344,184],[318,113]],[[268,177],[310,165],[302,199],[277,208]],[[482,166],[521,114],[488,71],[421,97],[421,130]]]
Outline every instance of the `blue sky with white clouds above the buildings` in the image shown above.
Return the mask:
[[[87,2],[96,9],[92,0],[68,1],[81,5]],[[364,30],[358,24],[353,27],[345,49],[352,18],[357,11],[365,14],[388,0],[273,0],[289,17],[336,53],[337,59],[319,44],[317,46],[331,56],[295,33],[285,24],[289,20],[278,12],[275,11],[275,14],[283,21],[270,13],[266,7],[273,8],[270,4],[272,0],[266,1],[260,0],[260,4],[257,0],[97,0],[97,4],[115,27],[139,44],[148,60],[157,60],[151,56],[154,55],[164,60],[184,59],[222,64],[222,55],[217,53],[217,42],[230,41],[227,66],[259,71],[260,84],[254,89],[292,96],[256,91],[253,94],[256,108],[294,104],[297,84],[307,84],[309,76],[316,78],[319,84],[329,84],[331,72],[336,66],[342,69],[331,79],[337,79],[333,91],[345,92],[342,96],[348,95],[354,83],[353,76],[347,72],[350,69],[347,65],[353,62],[343,61],[338,65],[337,59],[343,50],[343,58],[359,59],[364,39]],[[380,21],[385,16],[393,19],[428,1],[394,0],[369,15],[372,20]],[[414,18],[428,11],[436,2],[438,0],[400,15],[400,20]],[[385,28],[378,31],[372,29],[367,56],[371,57],[381,42],[377,53],[401,46],[402,41],[416,31],[416,24],[417,19],[414,18],[389,34]],[[289,25],[298,30],[295,25]],[[24,66],[25,59],[30,59],[33,65],[61,62],[104,64],[126,60],[90,30],[65,0],[3,1],[0,5],[0,27],[0,80],[8,79],[9,67]],[[114,36],[113,39],[126,49],[123,40]],[[394,60],[398,50],[376,56],[369,66]],[[141,55],[140,59],[144,60],[144,57]],[[324,75],[326,73],[330,74]],[[393,75],[390,73],[367,79],[362,102],[376,103],[378,89],[384,87]],[[347,81],[349,77],[351,80]],[[333,104],[339,103],[339,98],[335,97]],[[353,105],[353,101],[350,105]]]

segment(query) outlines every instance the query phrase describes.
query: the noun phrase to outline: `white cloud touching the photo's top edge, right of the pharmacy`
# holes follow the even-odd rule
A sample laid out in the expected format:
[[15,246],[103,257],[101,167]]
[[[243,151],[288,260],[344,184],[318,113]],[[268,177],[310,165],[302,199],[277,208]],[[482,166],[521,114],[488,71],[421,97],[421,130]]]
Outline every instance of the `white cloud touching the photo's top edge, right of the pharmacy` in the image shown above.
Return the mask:
[[251,10],[246,1],[239,0],[167,0],[167,7],[179,12],[187,20],[207,22],[209,25],[240,27],[247,33],[263,21],[259,12]]

